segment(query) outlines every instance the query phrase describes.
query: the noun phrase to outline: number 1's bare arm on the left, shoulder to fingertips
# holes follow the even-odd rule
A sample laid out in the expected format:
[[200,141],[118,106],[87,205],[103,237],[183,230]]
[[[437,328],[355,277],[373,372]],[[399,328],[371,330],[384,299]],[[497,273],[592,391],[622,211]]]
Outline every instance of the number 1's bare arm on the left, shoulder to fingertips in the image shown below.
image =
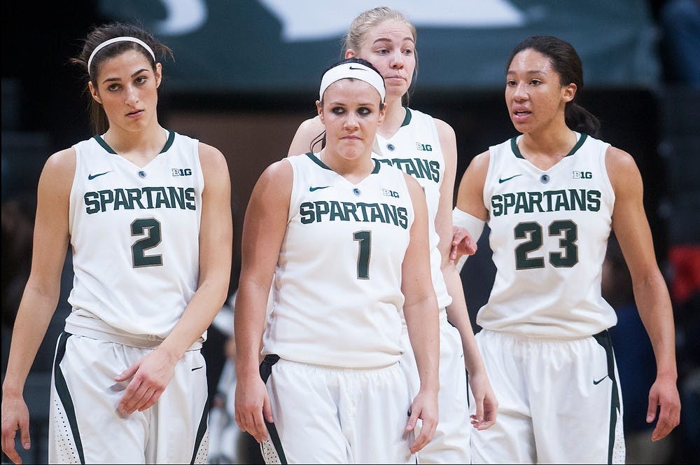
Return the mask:
[[287,228],[293,172],[287,161],[273,163],[253,188],[241,243],[241,277],[235,312],[236,422],[258,442],[267,438],[263,418],[272,422],[260,378],[260,345],[274,268]]

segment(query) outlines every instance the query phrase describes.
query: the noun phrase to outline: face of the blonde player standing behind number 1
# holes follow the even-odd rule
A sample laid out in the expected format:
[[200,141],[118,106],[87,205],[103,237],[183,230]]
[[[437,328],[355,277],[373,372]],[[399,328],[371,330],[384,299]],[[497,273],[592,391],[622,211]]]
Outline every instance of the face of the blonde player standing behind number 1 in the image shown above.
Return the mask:
[[370,32],[360,50],[346,50],[346,58],[363,58],[384,77],[386,99],[402,97],[416,69],[416,42],[405,22],[382,22]]

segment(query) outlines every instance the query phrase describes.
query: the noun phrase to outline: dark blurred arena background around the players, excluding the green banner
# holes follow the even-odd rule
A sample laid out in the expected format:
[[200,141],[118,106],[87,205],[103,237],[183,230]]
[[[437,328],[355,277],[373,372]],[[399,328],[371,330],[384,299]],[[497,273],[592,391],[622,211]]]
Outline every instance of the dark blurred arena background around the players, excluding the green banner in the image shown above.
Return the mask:
[[[659,20],[666,3],[649,2],[654,20]],[[4,1],[1,8],[4,375],[14,312],[23,279],[28,276],[31,256],[31,221],[22,223],[21,214],[27,214],[30,220],[34,218],[36,183],[48,155],[92,136],[87,123],[88,101],[82,98],[87,97],[83,95],[85,83],[78,80],[80,73],[68,59],[77,55],[79,39],[90,27],[109,19],[99,16],[97,4],[92,1],[50,2],[41,6],[28,1]],[[660,27],[657,47],[663,70],[658,85],[586,88],[580,95],[580,103],[601,118],[601,139],[631,153],[643,176],[644,202],[655,251],[674,302],[679,386],[682,386],[691,373],[696,373],[694,370],[698,366],[698,347],[694,342],[700,312],[698,277],[693,274],[697,270],[696,262],[691,263],[690,271],[684,271],[673,257],[680,254],[687,259],[688,254],[697,254],[700,244],[700,162],[696,156],[700,146],[697,123],[700,92],[697,83],[682,81],[669,63],[668,44]],[[174,52],[177,57],[177,50]],[[240,260],[239,232],[253,183],[269,162],[286,155],[297,125],[314,115],[314,102],[306,93],[179,95],[167,88],[167,67],[165,79],[160,96],[161,124],[220,148],[228,158],[236,246],[231,291],[235,291]],[[419,86],[410,105],[454,127],[459,154],[457,179],[475,154],[515,135],[501,89],[436,92],[421,91]],[[10,204],[14,209],[10,209]],[[15,216],[10,216],[13,211]],[[18,239],[18,231],[27,232]],[[463,271],[472,321],[488,298],[495,272],[487,240],[485,233],[479,240],[479,254],[468,260]],[[69,258],[66,270],[64,289],[67,292],[71,285]],[[682,273],[685,275],[680,284],[690,279],[696,287],[691,285],[689,291],[685,287],[679,290]],[[50,333],[60,331],[62,319],[69,312],[66,297],[67,294],[62,296]],[[478,331],[478,326],[474,326]],[[223,360],[220,345],[224,339],[225,335],[210,331],[207,349],[211,361],[210,378],[214,384],[218,376],[216,367]],[[41,376],[31,377],[27,384],[29,408],[37,417],[48,411],[43,387],[48,383],[45,375],[50,369],[54,343],[55,336],[45,340],[32,370]],[[31,394],[32,389],[36,394]],[[696,461],[699,457],[694,450],[700,442],[700,437],[696,436],[697,419],[684,418],[684,422],[695,429],[679,428],[674,433],[675,446],[669,456],[673,463]],[[41,425],[41,419],[35,422],[35,434],[45,433]],[[32,458],[41,461],[45,452],[41,447],[41,443],[35,441],[32,451],[35,455],[27,456],[29,463]]]

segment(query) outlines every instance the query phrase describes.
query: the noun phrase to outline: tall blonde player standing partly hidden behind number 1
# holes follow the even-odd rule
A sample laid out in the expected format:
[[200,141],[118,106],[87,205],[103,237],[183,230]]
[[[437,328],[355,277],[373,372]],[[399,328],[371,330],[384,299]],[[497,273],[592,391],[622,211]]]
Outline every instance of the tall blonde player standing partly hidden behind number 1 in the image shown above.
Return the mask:
[[[476,398],[473,423],[477,429],[493,424],[497,402],[476,347],[461,279],[449,260],[457,163],[454,130],[444,121],[402,104],[416,69],[416,28],[405,15],[386,7],[361,13],[346,34],[343,53],[345,57],[368,60],[384,76],[386,118],[377,127],[374,156],[383,164],[414,176],[426,193],[430,268],[441,309],[440,423],[435,438],[417,458],[424,464],[468,464],[470,418],[465,368]],[[289,155],[308,151],[321,139],[319,134],[323,136],[319,118],[304,121]],[[404,343],[409,344],[405,330]],[[412,391],[416,392],[419,377],[410,350],[405,352],[402,363],[409,373]]]

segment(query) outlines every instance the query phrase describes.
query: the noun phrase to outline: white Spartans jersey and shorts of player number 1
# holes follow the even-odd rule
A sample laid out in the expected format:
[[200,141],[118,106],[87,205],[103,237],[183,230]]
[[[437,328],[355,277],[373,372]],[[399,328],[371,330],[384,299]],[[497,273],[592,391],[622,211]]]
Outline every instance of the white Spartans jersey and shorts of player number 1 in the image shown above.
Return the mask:
[[293,186],[260,368],[274,417],[263,457],[407,462],[411,398],[398,361],[414,211],[404,174],[374,161],[353,184],[317,154],[286,160]]

